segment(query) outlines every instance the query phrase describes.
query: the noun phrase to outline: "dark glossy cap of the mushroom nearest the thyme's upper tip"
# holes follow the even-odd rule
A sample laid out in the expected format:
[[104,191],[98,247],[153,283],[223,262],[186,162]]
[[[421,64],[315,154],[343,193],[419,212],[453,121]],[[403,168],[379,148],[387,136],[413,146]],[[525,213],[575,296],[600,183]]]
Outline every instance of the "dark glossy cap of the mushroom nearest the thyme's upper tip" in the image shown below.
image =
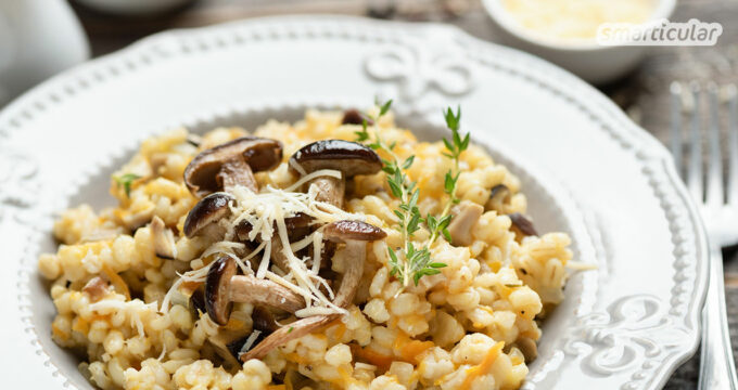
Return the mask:
[[355,174],[372,174],[382,169],[382,160],[371,148],[356,142],[343,140],[322,140],[303,146],[290,157],[290,170],[295,165],[307,172],[320,169],[335,169],[344,178]]

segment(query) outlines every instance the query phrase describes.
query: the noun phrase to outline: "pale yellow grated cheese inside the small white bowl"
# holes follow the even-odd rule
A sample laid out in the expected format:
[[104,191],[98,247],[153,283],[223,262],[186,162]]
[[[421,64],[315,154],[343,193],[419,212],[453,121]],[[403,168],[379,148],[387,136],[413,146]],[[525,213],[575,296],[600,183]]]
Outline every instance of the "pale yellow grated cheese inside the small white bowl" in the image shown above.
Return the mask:
[[588,41],[602,23],[647,22],[656,0],[501,0],[525,29],[563,41]]

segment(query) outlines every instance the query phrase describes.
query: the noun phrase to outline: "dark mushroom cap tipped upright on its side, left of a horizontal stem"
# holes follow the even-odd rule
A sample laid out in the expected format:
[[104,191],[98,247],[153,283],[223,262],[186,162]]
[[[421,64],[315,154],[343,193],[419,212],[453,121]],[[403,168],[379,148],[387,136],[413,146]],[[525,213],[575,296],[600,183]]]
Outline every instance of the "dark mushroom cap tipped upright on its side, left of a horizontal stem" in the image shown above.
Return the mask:
[[228,324],[233,309],[233,301],[230,299],[230,282],[237,271],[236,261],[228,256],[218,258],[207,270],[205,310],[211,320],[218,325]]

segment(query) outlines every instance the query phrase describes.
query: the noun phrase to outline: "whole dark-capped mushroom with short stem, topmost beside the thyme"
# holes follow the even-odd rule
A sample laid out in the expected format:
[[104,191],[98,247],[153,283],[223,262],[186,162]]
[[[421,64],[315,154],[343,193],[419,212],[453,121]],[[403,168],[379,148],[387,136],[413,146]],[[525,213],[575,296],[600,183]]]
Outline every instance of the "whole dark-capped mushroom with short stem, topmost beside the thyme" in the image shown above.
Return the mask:
[[303,146],[290,157],[290,171],[305,173],[320,169],[334,169],[343,174],[341,179],[320,177],[309,182],[308,192],[316,194],[319,202],[343,208],[345,181],[356,174],[373,174],[382,169],[382,160],[371,148],[343,140],[323,140]]

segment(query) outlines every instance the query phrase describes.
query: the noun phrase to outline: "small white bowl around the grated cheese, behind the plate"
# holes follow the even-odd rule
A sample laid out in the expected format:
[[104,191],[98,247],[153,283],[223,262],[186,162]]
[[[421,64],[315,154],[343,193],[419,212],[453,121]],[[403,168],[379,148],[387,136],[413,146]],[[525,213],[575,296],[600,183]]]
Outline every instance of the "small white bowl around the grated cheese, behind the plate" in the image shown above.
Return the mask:
[[[500,0],[482,0],[482,3],[507,44],[544,57],[591,83],[607,83],[633,70],[649,49],[642,46],[605,47],[594,39],[591,42],[546,39],[522,27]],[[669,18],[675,6],[676,0],[658,0],[651,20]]]

